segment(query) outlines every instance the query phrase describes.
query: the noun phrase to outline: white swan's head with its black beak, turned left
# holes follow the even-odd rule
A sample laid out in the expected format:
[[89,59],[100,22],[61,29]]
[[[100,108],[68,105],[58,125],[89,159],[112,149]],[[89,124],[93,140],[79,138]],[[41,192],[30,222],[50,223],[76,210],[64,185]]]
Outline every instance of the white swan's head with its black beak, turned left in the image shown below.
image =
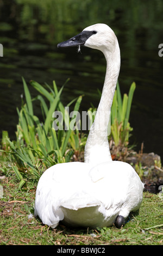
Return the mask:
[[95,24],[85,28],[80,34],[73,38],[60,42],[58,47],[87,46],[104,52],[105,49],[111,51],[117,42],[117,38],[112,29],[105,24]]

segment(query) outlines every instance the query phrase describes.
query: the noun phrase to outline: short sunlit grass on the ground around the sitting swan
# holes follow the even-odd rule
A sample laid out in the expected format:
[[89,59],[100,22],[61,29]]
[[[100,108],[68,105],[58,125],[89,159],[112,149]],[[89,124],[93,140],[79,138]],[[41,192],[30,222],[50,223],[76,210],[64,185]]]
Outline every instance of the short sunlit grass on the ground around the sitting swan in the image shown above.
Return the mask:
[[36,183],[28,181],[17,190],[11,171],[4,179],[0,199],[0,245],[162,245],[162,198],[144,192],[139,214],[130,216],[125,227],[72,229],[60,224],[56,229],[33,217]]

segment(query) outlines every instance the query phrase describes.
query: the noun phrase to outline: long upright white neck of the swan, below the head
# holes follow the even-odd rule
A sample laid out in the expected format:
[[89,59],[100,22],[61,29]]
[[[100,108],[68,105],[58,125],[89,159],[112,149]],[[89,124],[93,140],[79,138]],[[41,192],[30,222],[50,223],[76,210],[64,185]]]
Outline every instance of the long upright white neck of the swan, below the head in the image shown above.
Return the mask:
[[108,124],[120,72],[121,58],[118,41],[116,40],[112,50],[109,51],[105,48],[103,53],[106,59],[105,81],[95,121],[90,129],[84,153],[84,161],[92,164],[112,161],[108,142]]

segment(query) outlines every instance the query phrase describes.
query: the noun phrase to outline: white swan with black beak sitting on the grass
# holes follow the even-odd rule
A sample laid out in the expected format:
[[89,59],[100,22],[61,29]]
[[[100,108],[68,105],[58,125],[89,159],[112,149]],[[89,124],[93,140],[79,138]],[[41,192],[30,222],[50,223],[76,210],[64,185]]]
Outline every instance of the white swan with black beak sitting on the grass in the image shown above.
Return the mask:
[[110,27],[87,27],[58,47],[84,45],[104,53],[106,76],[95,121],[85,146],[85,162],[60,163],[42,174],[36,190],[35,216],[57,227],[124,225],[130,211],[140,208],[143,184],[128,163],[112,161],[107,127],[118,74],[120,48]]

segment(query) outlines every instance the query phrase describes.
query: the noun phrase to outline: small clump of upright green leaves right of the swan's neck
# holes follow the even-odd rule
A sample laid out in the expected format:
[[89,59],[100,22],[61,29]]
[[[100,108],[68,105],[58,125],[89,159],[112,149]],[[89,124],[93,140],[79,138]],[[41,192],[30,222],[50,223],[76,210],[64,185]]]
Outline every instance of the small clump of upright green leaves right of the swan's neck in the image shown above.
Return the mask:
[[133,128],[130,127],[129,115],[135,88],[136,85],[133,82],[129,94],[124,94],[122,100],[120,86],[119,83],[117,83],[111,107],[111,136],[114,139],[116,147],[119,144],[127,145],[130,132],[133,130]]

